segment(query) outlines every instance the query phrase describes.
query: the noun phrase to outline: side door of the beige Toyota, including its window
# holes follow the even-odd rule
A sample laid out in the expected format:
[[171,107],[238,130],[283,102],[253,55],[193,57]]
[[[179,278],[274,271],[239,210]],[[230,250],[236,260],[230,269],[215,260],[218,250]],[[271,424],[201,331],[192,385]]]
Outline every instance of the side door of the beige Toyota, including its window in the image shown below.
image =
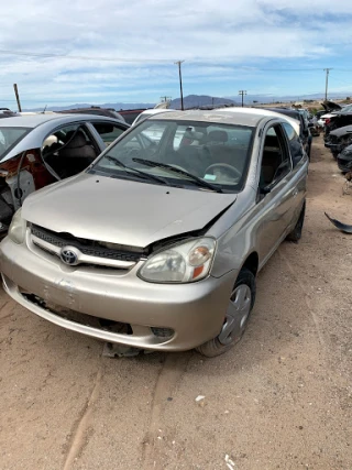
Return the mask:
[[296,189],[287,140],[279,123],[270,125],[263,132],[261,146],[257,247],[260,260],[264,264],[287,234]]

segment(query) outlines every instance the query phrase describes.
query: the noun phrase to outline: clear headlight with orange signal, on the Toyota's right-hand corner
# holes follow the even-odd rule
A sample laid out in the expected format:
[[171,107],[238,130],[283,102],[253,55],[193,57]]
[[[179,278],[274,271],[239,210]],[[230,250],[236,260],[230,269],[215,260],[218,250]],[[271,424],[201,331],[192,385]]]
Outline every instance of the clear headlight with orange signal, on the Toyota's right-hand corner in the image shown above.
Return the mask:
[[139,271],[144,281],[188,283],[209,274],[216,250],[212,238],[191,240],[152,255]]

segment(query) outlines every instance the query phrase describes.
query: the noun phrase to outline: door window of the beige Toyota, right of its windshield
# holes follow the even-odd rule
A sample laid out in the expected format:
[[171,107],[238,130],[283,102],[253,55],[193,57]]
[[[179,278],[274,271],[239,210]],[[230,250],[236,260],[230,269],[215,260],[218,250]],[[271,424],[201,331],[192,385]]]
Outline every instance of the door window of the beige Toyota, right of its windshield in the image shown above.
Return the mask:
[[279,124],[268,129],[263,146],[260,187],[273,186],[292,168],[290,159],[285,145]]

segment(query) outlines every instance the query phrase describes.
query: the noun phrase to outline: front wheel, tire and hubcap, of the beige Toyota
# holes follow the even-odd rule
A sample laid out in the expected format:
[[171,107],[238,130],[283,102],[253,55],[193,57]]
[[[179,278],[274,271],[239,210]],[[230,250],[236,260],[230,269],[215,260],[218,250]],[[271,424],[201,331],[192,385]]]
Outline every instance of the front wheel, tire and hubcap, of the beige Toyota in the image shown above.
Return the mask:
[[[196,348],[200,354],[215,358],[229,351],[240,341],[254,306],[255,289],[254,274],[245,267],[242,269],[233,286],[221,331],[216,338]],[[238,311],[240,314],[234,315]]]

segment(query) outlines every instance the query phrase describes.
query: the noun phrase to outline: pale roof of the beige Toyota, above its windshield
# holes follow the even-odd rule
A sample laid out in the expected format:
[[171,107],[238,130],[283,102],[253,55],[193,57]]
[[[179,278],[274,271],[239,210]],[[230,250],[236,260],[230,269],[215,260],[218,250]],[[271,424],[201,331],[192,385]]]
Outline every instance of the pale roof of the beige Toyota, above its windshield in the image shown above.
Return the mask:
[[189,110],[173,111],[160,116],[151,117],[150,120],[184,120],[201,122],[219,122],[223,124],[238,124],[257,127],[264,118],[278,118],[288,121],[299,133],[299,122],[296,119],[287,118],[278,112],[266,111],[257,108],[220,108],[216,110]]

